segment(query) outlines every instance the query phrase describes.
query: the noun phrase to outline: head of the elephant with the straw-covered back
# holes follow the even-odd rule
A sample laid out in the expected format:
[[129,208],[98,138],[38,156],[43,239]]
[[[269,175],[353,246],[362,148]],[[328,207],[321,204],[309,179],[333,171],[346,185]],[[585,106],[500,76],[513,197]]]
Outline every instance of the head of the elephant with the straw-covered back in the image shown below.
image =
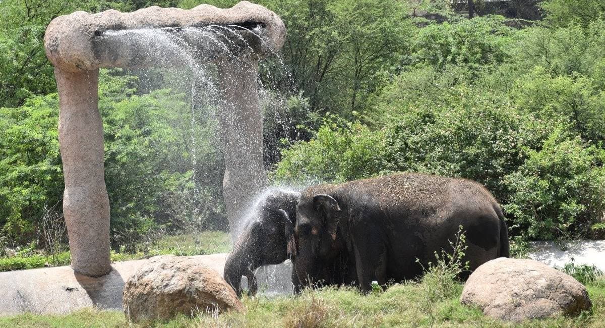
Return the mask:
[[296,276],[301,286],[342,282],[344,241],[338,237],[341,207],[329,194],[304,193],[296,208]]

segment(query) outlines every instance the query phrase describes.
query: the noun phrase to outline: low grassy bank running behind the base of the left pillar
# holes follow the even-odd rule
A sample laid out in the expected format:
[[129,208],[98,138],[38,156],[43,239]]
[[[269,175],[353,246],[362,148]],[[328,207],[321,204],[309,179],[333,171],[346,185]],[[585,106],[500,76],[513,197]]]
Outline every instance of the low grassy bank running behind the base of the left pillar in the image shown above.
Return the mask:
[[[141,244],[136,253],[111,252],[111,261],[137,260],[152,255],[205,255],[226,253],[231,249],[229,234],[222,231],[203,231],[197,234],[166,236],[149,244]],[[19,251],[13,257],[0,258],[0,272],[35,269],[44,266],[64,266],[71,261],[68,251],[48,255],[32,248]]]

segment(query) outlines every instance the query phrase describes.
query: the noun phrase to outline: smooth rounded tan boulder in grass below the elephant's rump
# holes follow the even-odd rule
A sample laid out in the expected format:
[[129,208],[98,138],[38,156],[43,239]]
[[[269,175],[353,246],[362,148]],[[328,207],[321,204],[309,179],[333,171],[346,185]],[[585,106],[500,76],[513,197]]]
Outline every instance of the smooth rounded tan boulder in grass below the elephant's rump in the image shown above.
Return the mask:
[[471,274],[460,301],[506,321],[575,315],[592,305],[586,288],[570,275],[538,261],[502,257]]

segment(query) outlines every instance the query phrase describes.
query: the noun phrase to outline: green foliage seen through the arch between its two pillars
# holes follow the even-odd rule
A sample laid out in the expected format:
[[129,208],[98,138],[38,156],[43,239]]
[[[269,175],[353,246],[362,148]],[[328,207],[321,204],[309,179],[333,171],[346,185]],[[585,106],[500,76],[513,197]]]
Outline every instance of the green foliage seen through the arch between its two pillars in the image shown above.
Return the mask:
[[[183,126],[191,120],[186,94],[169,88],[134,94],[136,78],[120,70],[103,73],[101,79],[114,249],[126,244],[126,251],[134,251],[143,236],[158,229],[223,228],[224,205],[216,197],[222,167],[215,147],[216,122],[200,116],[195,126]],[[205,112],[200,108],[198,113]],[[195,177],[191,140],[201,172]]]

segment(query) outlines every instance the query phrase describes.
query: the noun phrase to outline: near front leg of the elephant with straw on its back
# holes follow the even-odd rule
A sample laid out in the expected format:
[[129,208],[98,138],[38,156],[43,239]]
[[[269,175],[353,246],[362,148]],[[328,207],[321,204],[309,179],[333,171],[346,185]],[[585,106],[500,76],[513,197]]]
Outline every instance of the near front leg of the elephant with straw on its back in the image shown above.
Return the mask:
[[372,228],[353,232],[353,250],[359,287],[370,292],[372,281],[384,286],[387,283],[387,248],[384,239],[373,233]]

